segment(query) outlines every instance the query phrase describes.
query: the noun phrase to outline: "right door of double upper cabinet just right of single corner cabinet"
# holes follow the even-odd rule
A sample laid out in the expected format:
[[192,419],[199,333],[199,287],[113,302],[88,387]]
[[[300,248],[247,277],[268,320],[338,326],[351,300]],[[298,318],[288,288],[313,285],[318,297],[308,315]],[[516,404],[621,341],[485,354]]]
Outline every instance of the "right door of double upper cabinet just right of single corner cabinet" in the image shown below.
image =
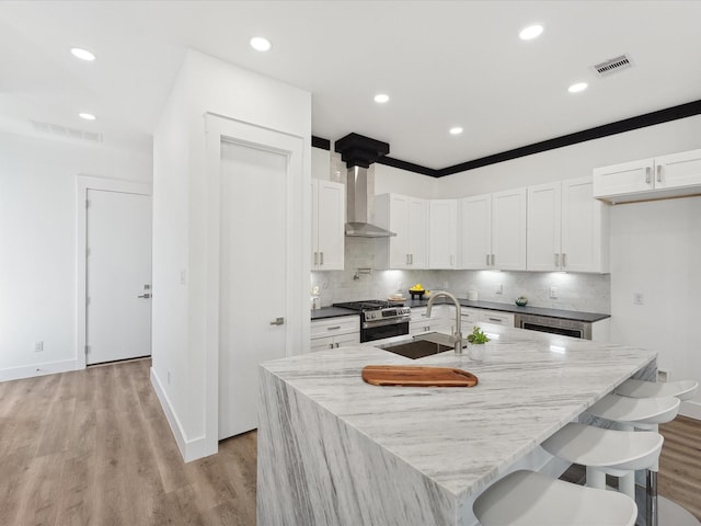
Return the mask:
[[492,194],[490,268],[526,270],[526,188]]

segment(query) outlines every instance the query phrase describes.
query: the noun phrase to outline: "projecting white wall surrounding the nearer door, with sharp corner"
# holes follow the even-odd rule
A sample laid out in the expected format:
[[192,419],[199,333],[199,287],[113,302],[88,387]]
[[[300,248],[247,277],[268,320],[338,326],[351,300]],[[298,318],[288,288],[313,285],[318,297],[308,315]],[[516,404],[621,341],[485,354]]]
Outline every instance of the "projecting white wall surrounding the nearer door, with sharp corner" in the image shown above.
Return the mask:
[[[205,420],[217,370],[207,363],[207,158],[205,114],[302,137],[310,182],[311,95],[206,55],[188,52],[154,135],[152,379],[186,460],[210,454]],[[311,195],[299,210],[310,252]],[[307,275],[309,266],[307,265]],[[186,285],[181,283],[186,276]],[[246,276],[261,278],[265,276]],[[307,295],[307,277],[299,287]],[[290,289],[290,295],[298,294]],[[300,296],[301,298],[301,296]],[[306,327],[308,335],[309,328]],[[215,342],[216,343],[216,342]],[[300,350],[301,352],[301,350]],[[170,377],[170,382],[169,382]],[[216,412],[216,411],[215,411]]]

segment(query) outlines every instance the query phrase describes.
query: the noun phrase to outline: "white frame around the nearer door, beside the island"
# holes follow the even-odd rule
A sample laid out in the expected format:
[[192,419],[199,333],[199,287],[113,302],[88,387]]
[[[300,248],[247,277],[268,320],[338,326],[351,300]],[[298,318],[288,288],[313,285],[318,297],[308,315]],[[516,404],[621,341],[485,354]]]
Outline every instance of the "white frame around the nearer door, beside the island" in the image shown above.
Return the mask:
[[[309,273],[311,250],[311,145],[303,137],[265,128],[245,121],[205,113],[206,130],[206,315],[205,315],[205,436],[204,455],[219,447],[219,258],[221,220],[221,142],[285,155],[287,164],[287,265],[285,353],[309,347]],[[289,160],[295,157],[292,162]],[[294,170],[292,163],[298,163]],[[306,316],[304,316],[306,315]],[[304,346],[306,342],[306,346]]]

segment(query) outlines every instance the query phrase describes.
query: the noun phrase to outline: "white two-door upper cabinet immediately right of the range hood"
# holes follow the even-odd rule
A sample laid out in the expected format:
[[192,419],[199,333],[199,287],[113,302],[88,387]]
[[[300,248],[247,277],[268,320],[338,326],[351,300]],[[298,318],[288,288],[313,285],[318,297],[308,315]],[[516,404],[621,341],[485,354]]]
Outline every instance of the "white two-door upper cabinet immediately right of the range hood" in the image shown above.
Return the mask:
[[395,232],[376,240],[377,268],[427,268],[428,202],[399,194],[375,197],[375,224]]

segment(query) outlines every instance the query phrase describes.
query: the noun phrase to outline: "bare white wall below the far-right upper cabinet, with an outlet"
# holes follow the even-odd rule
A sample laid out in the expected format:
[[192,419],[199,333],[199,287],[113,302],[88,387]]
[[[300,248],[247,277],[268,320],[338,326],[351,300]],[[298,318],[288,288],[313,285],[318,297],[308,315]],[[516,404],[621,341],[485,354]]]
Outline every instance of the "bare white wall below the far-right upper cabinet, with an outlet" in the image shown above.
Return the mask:
[[[701,197],[612,207],[611,258],[611,339],[657,351],[669,379],[701,382]],[[701,419],[701,395],[682,413]]]

